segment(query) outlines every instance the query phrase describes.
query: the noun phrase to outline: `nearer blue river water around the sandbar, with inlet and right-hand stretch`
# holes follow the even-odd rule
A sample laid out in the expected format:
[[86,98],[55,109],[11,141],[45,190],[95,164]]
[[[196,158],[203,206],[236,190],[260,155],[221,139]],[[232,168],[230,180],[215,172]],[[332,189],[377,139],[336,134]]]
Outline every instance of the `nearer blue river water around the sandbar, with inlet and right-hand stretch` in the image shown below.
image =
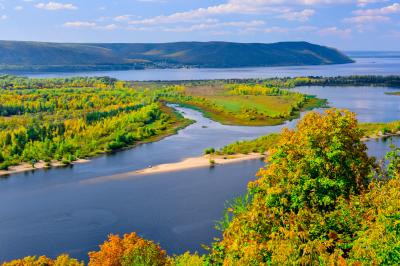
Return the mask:
[[[303,87],[296,90],[348,108],[361,122],[400,120],[400,96],[371,87]],[[148,165],[198,156],[207,147],[252,139],[283,126],[224,126],[199,112],[177,108],[195,124],[161,141],[100,156],[86,164],[15,174],[0,180],[0,261],[27,255],[69,253],[87,259],[109,233],[136,231],[169,253],[203,252],[219,235],[214,229],[225,202],[246,191],[259,160],[214,169],[200,168],[147,176],[116,174]],[[399,138],[392,140],[400,143]],[[389,140],[368,141],[371,155],[382,158]]]

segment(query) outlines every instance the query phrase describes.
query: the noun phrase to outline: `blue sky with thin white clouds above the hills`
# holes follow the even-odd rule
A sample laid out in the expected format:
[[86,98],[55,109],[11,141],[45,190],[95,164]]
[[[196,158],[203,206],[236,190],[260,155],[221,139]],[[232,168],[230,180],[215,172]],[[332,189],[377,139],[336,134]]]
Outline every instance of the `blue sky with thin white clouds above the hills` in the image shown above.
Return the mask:
[[400,1],[0,0],[0,39],[302,40],[342,50],[400,50]]

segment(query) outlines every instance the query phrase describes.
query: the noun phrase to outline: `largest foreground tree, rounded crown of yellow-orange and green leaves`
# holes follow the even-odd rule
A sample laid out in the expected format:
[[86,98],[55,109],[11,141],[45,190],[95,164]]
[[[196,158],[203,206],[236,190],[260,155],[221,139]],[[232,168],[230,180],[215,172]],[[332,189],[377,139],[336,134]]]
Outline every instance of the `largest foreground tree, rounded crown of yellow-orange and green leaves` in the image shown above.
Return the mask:
[[209,262],[224,265],[319,264],[344,260],[362,208],[348,203],[368,188],[369,158],[353,113],[309,113],[284,130],[250,203],[235,212]]

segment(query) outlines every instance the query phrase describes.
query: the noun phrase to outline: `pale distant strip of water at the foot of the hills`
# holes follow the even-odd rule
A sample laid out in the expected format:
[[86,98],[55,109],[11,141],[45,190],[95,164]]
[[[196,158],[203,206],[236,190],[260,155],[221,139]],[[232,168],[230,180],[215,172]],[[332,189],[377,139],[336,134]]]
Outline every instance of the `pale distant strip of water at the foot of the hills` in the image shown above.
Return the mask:
[[[245,79],[297,76],[349,76],[349,75],[398,75],[400,58],[355,58],[356,63],[326,66],[249,67],[249,68],[192,68],[145,69],[126,71],[23,73],[36,78],[72,76],[109,76],[122,80],[202,80]],[[21,75],[21,74],[20,74]]]

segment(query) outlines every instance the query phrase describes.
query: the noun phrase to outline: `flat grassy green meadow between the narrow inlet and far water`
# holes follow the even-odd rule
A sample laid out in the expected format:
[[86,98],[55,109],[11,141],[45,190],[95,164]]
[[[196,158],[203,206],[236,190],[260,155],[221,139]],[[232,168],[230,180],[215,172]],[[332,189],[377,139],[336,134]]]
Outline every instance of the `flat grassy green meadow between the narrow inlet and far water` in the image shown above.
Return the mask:
[[225,125],[268,126],[297,118],[300,111],[325,106],[326,101],[287,90],[253,84],[170,86],[162,98],[201,111]]

